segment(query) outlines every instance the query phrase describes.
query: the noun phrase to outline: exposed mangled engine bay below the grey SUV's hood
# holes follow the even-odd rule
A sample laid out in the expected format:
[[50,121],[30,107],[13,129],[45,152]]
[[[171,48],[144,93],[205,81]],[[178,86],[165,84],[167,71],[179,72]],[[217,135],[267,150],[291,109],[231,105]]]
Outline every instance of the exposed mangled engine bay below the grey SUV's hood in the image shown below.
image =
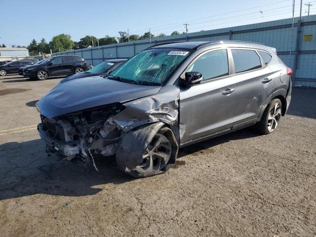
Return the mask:
[[57,118],[40,115],[39,131],[44,133],[40,135],[51,139],[51,148],[68,160],[80,158],[85,162],[88,156],[93,159],[92,150],[95,154],[112,156],[123,132],[111,118],[123,109],[120,103],[115,103]]

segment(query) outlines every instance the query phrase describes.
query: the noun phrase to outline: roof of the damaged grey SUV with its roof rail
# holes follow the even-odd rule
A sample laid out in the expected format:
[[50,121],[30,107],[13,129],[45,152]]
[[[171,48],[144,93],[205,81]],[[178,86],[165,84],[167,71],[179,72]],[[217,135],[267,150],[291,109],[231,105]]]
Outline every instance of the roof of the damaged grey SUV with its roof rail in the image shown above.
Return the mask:
[[[202,46],[207,46],[207,45],[216,45],[216,44],[223,44],[223,43],[228,43],[231,44],[231,46],[247,46],[247,47],[269,47],[265,44],[262,43],[255,43],[255,42],[247,42],[247,41],[237,41],[237,40],[219,40],[219,41],[194,41],[194,42],[176,42],[176,43],[163,43],[163,44],[156,44],[153,45],[150,48],[187,48],[187,49],[197,49]],[[271,47],[269,47],[271,48]]]

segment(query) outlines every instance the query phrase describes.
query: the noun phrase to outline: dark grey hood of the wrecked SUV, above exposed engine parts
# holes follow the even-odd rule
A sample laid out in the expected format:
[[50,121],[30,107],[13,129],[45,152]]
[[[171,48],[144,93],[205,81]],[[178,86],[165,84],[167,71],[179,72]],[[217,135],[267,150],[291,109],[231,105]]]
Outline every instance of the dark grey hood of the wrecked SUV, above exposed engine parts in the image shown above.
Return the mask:
[[161,86],[142,86],[103,77],[81,78],[59,84],[37,104],[40,113],[48,118],[97,106],[124,103],[159,92]]

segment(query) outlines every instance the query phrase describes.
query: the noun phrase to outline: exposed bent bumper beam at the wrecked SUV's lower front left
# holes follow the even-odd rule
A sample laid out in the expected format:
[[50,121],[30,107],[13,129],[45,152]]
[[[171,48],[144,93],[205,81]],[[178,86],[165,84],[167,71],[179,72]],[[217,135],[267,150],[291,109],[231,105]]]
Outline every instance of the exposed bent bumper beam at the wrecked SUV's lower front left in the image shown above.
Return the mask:
[[59,142],[59,141],[53,140],[50,137],[48,137],[46,135],[45,131],[43,130],[41,123],[38,124],[38,131],[39,131],[41,139],[48,146],[57,150],[59,152],[59,154],[64,155],[66,157],[71,157],[71,156],[75,156],[75,155],[79,154],[79,152],[80,152],[79,146],[77,146],[77,145],[72,146],[72,145],[66,144],[64,142]]

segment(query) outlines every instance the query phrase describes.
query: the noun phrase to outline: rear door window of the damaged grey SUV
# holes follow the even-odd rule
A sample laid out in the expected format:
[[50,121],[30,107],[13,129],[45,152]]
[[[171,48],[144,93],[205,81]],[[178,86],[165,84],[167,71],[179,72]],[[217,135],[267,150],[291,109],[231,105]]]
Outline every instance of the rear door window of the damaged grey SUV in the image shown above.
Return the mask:
[[259,55],[254,50],[232,49],[232,54],[236,73],[261,68]]

